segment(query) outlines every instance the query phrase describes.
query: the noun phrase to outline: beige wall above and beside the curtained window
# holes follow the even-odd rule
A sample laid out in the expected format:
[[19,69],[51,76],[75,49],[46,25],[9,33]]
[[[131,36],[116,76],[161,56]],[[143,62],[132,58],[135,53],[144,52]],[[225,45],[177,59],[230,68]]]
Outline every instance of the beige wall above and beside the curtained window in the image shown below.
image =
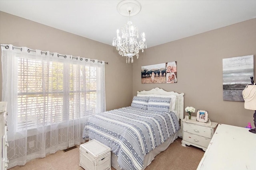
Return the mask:
[[[131,104],[132,64],[126,64],[125,58],[120,57],[115,47],[4,12],[0,12],[0,43],[104,60],[108,62],[105,65],[106,109]],[[0,70],[2,72],[2,68]],[[0,84],[2,100],[2,74]]]

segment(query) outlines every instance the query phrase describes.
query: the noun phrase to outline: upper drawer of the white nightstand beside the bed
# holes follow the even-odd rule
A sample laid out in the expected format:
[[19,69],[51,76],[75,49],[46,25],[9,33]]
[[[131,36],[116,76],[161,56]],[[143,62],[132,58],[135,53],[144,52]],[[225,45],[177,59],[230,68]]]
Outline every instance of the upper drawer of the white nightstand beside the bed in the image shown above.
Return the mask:
[[184,132],[200,135],[207,138],[212,138],[212,128],[195,125],[192,123],[184,123]]

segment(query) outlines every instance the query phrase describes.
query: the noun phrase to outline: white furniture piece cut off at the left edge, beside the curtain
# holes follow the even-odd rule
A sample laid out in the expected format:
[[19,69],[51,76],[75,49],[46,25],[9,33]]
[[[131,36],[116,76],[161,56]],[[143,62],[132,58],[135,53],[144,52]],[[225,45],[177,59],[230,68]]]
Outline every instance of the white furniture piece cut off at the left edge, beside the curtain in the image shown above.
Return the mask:
[[6,170],[8,166],[7,158],[7,102],[0,102],[0,170]]

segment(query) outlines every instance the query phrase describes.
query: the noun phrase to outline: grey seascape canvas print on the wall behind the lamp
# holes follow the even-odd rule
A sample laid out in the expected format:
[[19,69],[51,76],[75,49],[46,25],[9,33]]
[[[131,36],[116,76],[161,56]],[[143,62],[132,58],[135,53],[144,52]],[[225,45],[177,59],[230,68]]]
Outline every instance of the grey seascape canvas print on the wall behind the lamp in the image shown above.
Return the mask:
[[222,59],[223,100],[243,102],[242,91],[254,77],[253,55]]

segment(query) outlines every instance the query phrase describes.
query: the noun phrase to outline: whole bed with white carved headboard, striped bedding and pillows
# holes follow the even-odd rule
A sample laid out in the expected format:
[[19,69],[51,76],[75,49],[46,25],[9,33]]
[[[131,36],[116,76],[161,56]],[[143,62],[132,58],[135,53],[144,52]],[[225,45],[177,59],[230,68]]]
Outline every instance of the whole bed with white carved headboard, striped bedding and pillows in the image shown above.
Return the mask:
[[137,92],[131,106],[90,116],[83,138],[110,147],[111,166],[116,170],[144,170],[182,137],[183,96],[160,88]]

